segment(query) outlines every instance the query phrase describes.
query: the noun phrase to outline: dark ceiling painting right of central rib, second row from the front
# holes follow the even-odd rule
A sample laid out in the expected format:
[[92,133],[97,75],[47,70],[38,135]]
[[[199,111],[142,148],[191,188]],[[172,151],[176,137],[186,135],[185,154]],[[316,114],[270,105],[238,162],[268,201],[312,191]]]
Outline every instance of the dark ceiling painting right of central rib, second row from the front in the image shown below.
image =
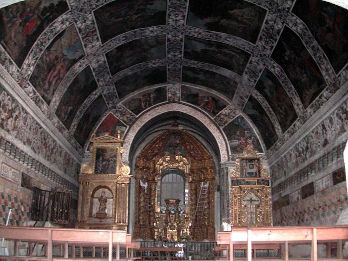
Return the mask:
[[222,42],[185,35],[184,58],[215,64],[242,75],[250,54]]

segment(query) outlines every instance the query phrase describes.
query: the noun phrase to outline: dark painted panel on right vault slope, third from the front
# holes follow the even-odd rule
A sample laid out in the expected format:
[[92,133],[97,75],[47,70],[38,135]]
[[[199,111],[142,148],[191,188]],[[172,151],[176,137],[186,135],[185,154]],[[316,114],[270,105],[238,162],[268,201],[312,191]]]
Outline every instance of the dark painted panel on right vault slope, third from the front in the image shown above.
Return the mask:
[[255,89],[266,99],[276,114],[283,132],[298,118],[294,106],[277,77],[267,68],[263,71]]

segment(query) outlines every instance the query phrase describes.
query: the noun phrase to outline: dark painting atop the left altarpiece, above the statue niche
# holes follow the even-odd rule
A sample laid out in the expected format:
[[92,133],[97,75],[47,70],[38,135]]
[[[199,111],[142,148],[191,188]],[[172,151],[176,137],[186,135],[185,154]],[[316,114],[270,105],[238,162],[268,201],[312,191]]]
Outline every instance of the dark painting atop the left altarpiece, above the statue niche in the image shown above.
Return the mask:
[[117,160],[117,149],[96,149],[95,170],[97,174],[115,174]]

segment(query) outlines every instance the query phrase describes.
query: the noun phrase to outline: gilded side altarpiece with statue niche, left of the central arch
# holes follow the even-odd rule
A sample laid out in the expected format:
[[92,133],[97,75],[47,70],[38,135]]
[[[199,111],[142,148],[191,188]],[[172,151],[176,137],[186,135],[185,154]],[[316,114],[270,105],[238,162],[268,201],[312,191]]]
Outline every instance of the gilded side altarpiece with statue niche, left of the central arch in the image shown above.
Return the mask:
[[121,161],[123,140],[108,133],[90,139],[92,158],[79,174],[77,228],[127,230],[130,169]]

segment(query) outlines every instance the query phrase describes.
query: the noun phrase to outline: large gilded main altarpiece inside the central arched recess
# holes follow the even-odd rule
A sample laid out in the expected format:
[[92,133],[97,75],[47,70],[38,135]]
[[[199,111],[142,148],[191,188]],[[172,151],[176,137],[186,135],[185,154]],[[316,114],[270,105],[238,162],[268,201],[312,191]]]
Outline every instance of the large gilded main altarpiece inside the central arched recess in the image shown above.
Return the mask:
[[[182,178],[182,197],[166,198],[166,175]],[[203,218],[195,210],[209,181]],[[180,184],[179,184],[180,185]],[[178,185],[178,186],[179,186]],[[133,238],[214,240],[214,166],[207,150],[181,130],[166,130],[137,156]]]

